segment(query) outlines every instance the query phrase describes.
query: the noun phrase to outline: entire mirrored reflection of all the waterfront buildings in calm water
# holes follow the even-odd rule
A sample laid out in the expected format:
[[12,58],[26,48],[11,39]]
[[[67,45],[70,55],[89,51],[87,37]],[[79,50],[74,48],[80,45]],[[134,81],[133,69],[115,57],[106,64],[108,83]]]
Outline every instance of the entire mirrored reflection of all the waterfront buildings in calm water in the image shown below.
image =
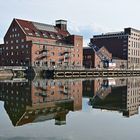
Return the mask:
[[89,98],[93,110],[138,114],[139,78],[106,79],[13,79],[0,82],[0,100],[14,126],[55,120],[66,124],[69,111],[82,109],[82,98]]

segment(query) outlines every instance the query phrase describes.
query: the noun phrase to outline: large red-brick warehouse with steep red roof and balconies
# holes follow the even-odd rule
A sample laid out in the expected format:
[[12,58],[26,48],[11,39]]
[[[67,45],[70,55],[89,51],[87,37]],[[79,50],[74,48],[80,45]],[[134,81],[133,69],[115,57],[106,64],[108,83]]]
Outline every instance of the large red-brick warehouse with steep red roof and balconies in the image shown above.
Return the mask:
[[83,37],[67,31],[67,21],[56,25],[13,19],[1,44],[2,66],[81,67]]

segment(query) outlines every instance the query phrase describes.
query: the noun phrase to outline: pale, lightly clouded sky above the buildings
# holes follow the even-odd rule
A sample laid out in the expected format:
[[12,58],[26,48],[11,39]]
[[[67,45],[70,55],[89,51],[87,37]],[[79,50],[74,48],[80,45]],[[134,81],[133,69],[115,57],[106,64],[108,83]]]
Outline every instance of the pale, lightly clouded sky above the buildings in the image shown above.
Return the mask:
[[13,18],[53,25],[64,19],[86,46],[95,34],[140,29],[139,5],[139,0],[0,0],[0,43]]

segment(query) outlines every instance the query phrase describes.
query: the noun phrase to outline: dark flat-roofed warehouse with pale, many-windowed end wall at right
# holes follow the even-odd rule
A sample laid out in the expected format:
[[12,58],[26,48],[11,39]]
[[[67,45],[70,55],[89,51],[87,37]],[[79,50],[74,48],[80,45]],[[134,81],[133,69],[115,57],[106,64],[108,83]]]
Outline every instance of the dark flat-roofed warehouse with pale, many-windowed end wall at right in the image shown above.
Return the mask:
[[106,47],[112,57],[127,60],[127,68],[140,68],[140,31],[125,28],[122,32],[94,35],[91,42]]

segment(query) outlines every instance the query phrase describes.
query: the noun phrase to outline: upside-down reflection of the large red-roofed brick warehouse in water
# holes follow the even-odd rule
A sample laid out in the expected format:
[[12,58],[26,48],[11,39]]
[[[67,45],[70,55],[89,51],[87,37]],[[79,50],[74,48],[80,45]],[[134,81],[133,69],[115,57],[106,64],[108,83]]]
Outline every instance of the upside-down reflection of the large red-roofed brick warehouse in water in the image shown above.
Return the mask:
[[3,81],[0,100],[14,126],[51,119],[63,125],[69,111],[82,109],[82,81]]

